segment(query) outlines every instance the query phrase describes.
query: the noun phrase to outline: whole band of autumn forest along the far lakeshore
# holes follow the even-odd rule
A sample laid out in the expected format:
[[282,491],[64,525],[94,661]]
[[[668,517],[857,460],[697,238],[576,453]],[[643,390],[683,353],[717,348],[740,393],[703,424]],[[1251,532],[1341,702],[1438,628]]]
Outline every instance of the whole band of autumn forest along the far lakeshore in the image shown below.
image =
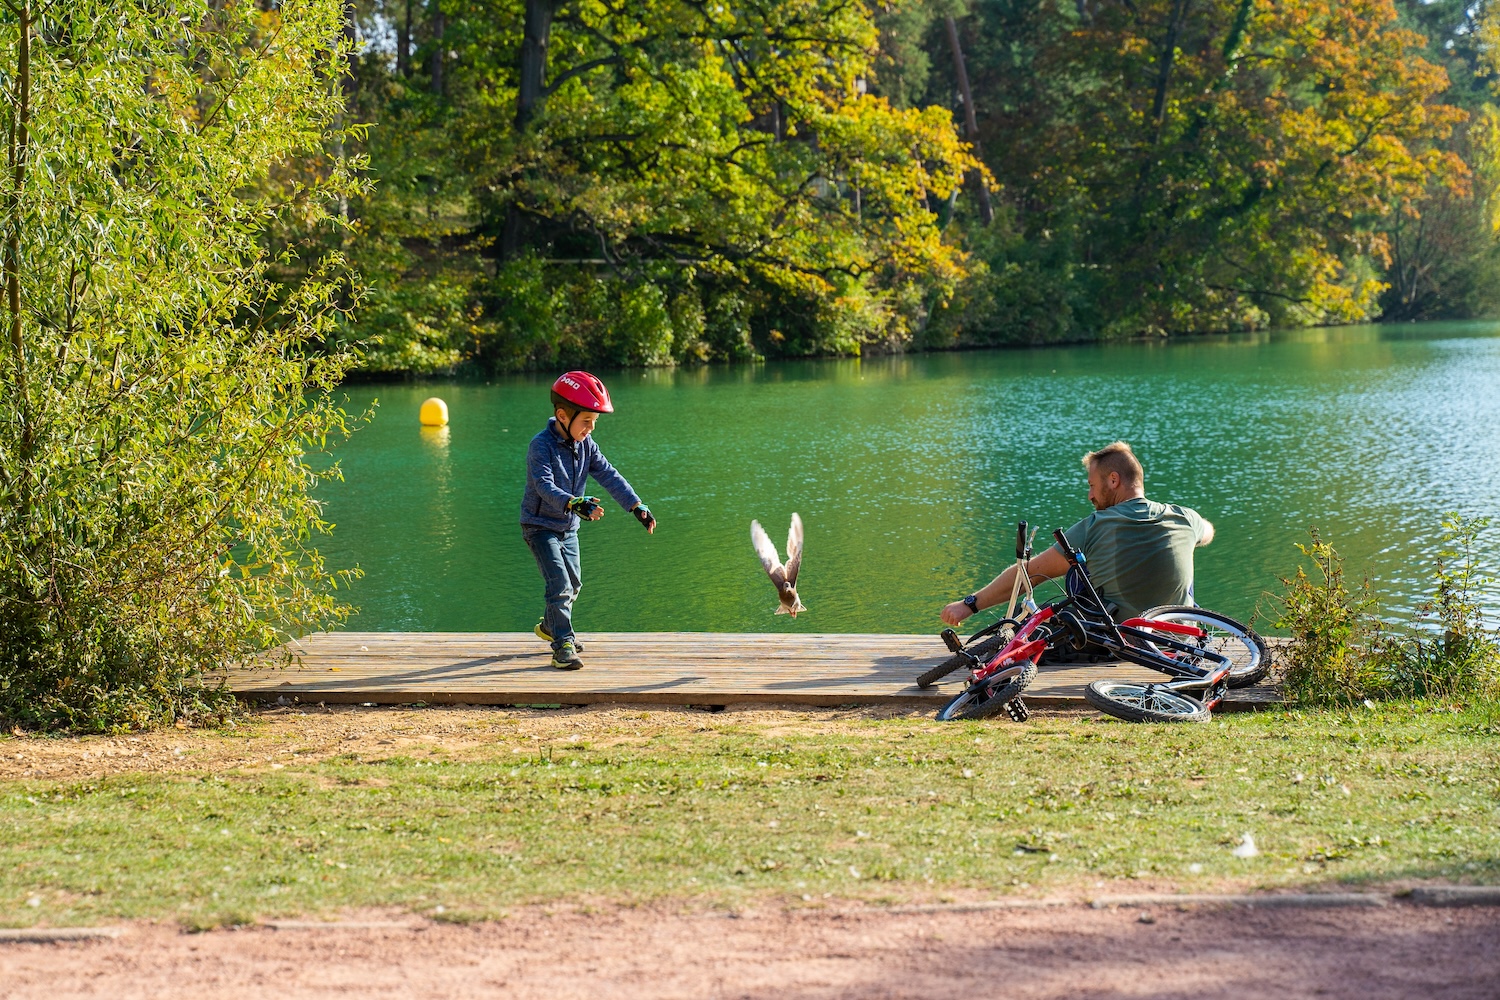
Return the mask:
[[490,373],[1490,315],[1494,6],[357,0],[338,346]]

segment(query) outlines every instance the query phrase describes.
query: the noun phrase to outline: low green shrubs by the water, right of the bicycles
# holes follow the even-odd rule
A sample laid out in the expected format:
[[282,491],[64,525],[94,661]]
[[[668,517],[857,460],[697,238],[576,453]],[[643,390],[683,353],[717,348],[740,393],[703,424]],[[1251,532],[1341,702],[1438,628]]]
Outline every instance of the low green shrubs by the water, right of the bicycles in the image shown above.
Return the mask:
[[1461,699],[1500,693],[1500,633],[1485,624],[1479,591],[1491,583],[1476,562],[1474,540],[1488,519],[1449,514],[1434,570],[1434,594],[1410,624],[1383,622],[1370,582],[1350,589],[1344,561],[1312,532],[1298,546],[1314,576],[1299,567],[1284,579],[1276,627],[1292,634],[1282,654],[1287,696],[1305,705],[1365,699]]

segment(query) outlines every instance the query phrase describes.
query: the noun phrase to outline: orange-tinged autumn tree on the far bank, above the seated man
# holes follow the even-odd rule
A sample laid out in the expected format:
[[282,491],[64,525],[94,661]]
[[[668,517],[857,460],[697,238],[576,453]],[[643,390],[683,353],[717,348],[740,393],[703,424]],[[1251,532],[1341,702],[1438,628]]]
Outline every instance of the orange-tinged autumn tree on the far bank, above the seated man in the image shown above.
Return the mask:
[[1012,232],[986,294],[1053,288],[1062,336],[1368,318],[1378,220],[1467,184],[1440,145],[1466,112],[1440,102],[1448,75],[1390,0],[1004,0],[976,16],[1000,39],[969,55],[976,93],[1006,97],[988,115],[1004,142],[982,124],[981,142],[1002,150]]

